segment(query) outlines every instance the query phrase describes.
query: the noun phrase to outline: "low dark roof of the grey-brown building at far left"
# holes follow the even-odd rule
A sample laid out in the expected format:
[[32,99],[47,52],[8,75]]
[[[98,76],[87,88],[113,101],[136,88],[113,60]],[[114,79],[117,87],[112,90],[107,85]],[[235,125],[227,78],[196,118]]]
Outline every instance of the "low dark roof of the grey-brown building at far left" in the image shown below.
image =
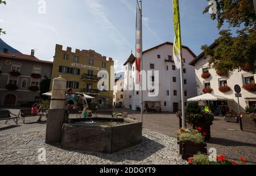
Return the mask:
[[42,62],[42,63],[46,63],[46,64],[52,64],[52,62],[50,62],[50,61],[39,60],[35,56],[23,55],[22,53],[9,53],[9,52],[4,53],[4,52],[0,52],[0,57],[16,58],[16,59],[20,59],[20,60],[27,60],[27,61],[35,61],[35,62]]

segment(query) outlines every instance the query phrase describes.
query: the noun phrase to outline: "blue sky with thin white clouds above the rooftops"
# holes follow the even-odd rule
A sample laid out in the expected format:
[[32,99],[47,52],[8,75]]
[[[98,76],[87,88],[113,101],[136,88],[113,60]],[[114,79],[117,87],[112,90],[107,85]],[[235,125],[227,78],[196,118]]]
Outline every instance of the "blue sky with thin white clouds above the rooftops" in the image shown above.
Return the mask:
[[[45,14],[42,1],[46,2]],[[6,0],[0,5],[1,35],[23,54],[35,49],[40,60],[53,61],[55,44],[92,49],[112,57],[115,72],[135,53],[136,0]],[[172,0],[143,0],[143,50],[174,41]],[[40,4],[40,5],[39,5]],[[196,55],[218,37],[217,22],[203,14],[207,0],[180,0],[182,44]],[[40,12],[39,12],[40,11]]]

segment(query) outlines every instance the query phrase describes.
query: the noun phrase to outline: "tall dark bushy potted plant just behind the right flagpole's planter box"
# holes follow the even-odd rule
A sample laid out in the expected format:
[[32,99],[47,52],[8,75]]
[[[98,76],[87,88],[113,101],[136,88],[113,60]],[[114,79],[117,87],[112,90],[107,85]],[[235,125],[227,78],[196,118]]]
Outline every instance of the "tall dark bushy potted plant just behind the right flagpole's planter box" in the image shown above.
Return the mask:
[[214,116],[207,112],[201,112],[198,103],[189,103],[185,113],[186,119],[193,129],[200,127],[205,133],[205,139],[210,139],[210,126],[213,124]]

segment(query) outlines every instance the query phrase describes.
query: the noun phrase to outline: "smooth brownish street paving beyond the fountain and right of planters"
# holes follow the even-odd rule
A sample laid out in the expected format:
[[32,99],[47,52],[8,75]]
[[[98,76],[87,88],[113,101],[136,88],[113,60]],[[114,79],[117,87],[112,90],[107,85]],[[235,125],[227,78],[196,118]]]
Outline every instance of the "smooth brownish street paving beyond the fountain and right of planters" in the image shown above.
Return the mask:
[[[118,108],[114,112],[126,111],[130,118],[141,120],[140,112]],[[215,117],[211,126],[211,139],[207,148],[216,148],[217,154],[223,154],[238,161],[245,158],[247,163],[256,164],[256,134],[242,132],[238,123],[229,123],[222,117]],[[170,137],[176,137],[179,119],[175,114],[145,114],[143,127]]]

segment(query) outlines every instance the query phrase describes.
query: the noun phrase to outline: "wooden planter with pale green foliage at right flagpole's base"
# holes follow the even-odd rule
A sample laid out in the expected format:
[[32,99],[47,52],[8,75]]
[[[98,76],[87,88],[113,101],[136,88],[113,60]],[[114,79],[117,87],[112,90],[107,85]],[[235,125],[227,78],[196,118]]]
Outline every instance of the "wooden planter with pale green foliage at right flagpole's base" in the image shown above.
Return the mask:
[[183,160],[187,160],[198,152],[207,154],[207,144],[204,143],[204,136],[199,130],[180,128],[177,133]]

